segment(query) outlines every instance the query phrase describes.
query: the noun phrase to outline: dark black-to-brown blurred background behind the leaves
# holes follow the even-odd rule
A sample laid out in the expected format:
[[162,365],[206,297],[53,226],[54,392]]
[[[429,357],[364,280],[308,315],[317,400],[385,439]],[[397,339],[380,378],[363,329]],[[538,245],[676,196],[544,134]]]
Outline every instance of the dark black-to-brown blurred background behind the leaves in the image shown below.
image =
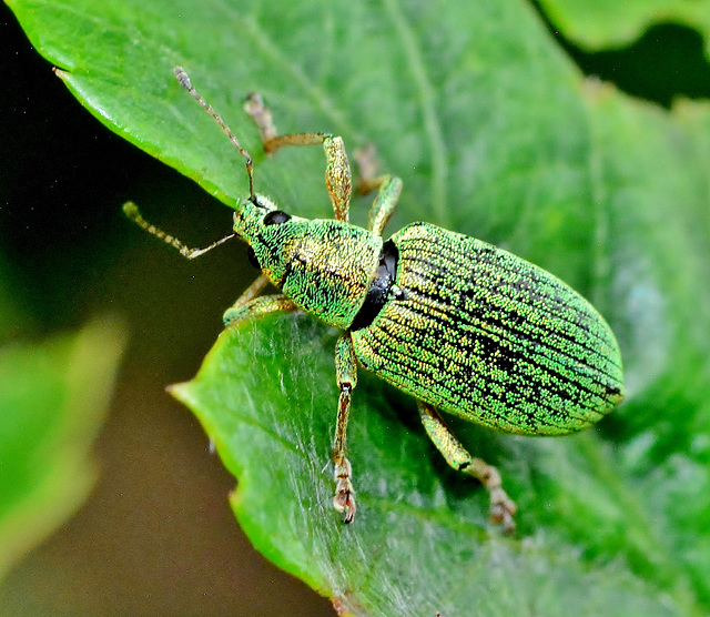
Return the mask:
[[[550,32],[582,72],[668,107],[708,98],[701,37],[650,28],[633,45],[586,53]],[[164,386],[191,378],[221,315],[253,276],[227,243],[186,262],[126,222],[128,200],[193,246],[229,233],[231,212],[94,120],[0,6],[0,259],[29,320],[18,338],[106,312],[129,327],[101,477],[79,514],[9,575],[0,615],[333,615],[263,559],[235,524],[234,479]],[[698,79],[698,75],[703,75]],[[237,165],[235,173],[241,173]]]

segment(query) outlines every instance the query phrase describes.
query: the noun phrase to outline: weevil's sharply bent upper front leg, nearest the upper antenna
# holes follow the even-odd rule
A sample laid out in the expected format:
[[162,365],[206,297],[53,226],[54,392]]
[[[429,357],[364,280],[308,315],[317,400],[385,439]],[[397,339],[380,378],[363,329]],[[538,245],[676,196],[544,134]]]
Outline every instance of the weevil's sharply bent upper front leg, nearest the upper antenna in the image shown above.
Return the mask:
[[337,221],[347,221],[351,198],[353,195],[353,175],[347,161],[343,138],[328,133],[291,133],[280,135],[270,109],[264,104],[261,95],[251,93],[244,105],[246,112],[254,119],[264,143],[264,152],[271,154],[286,145],[317,145],[323,144],[325,152],[325,185],[333,203],[333,212]]

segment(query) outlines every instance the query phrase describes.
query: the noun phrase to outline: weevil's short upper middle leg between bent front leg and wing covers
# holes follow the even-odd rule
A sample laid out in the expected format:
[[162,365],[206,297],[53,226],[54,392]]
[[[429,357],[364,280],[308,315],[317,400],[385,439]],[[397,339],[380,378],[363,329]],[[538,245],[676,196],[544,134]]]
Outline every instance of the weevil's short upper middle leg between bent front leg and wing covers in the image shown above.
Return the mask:
[[373,144],[356,150],[355,161],[358,171],[357,192],[367,194],[379,190],[369,209],[367,229],[376,235],[382,235],[399,201],[402,180],[387,174],[377,175],[378,163]]

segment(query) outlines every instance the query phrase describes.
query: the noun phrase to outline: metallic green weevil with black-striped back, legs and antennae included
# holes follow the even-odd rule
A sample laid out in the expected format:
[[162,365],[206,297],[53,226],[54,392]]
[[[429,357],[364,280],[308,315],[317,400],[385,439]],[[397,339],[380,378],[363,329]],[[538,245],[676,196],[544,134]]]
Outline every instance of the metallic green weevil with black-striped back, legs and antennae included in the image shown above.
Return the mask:
[[[248,243],[262,273],[224,313],[225,325],[300,310],[343,331],[335,346],[333,445],[333,504],[343,520],[351,523],[356,509],[346,432],[359,363],[416,398],[434,445],[452,467],[480,481],[491,520],[511,533],[517,506],[498,471],[466,451],[439,411],[518,435],[564,435],[595,424],[623,398],[621,355],[607,322],[555,275],[480,240],[422,222],[384,240],[402,181],[376,175],[367,158],[358,189],[377,195],[367,229],[351,224],[353,181],[342,138],[280,135],[261,97],[251,94],[245,108],[267,154],[288,145],[325,151],[335,218],[307,220],[280,210],[254,192],[248,152],[187,73],[180,67],[174,72],[245,159],[248,198],[235,205],[234,233],[206,249],[189,249],[132,203],[124,211],[189,259],[234,235]],[[281,293],[260,296],[270,283]]]

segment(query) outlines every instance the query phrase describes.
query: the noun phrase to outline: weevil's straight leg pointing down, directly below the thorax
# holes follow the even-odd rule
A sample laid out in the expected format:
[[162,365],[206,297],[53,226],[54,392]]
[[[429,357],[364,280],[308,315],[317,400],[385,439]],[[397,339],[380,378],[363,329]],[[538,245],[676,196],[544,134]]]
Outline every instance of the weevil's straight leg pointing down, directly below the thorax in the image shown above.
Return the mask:
[[347,452],[347,418],[351,413],[351,398],[357,385],[357,361],[349,332],[345,332],[335,345],[335,376],[339,390],[333,463],[335,464],[335,497],[333,506],[343,513],[343,523],[352,523],[355,517],[355,489],[352,477],[353,467],[345,456]]

